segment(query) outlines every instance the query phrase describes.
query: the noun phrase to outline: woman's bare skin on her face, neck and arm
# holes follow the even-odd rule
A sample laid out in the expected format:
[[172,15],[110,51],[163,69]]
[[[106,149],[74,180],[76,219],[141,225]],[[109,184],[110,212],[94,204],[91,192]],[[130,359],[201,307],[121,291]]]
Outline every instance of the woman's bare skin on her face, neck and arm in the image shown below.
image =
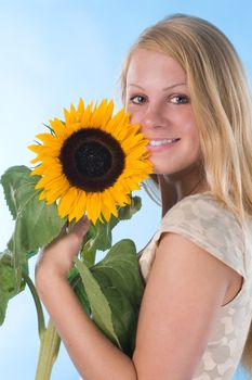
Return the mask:
[[[184,85],[163,91],[178,83]],[[181,103],[180,98],[189,97],[180,65],[164,54],[137,50],[127,85],[127,109],[146,137],[181,138],[173,148],[151,151],[155,172],[167,175],[160,180],[163,199],[169,199],[163,210],[193,188],[204,191],[195,116],[190,102]],[[58,237],[41,252],[36,270],[38,292],[80,375],[87,380],[191,379],[220,307],[240,289],[240,276],[189,240],[163,233],[145,288],[131,360],[83,313],[67,282],[88,228],[83,218],[70,233]]]

